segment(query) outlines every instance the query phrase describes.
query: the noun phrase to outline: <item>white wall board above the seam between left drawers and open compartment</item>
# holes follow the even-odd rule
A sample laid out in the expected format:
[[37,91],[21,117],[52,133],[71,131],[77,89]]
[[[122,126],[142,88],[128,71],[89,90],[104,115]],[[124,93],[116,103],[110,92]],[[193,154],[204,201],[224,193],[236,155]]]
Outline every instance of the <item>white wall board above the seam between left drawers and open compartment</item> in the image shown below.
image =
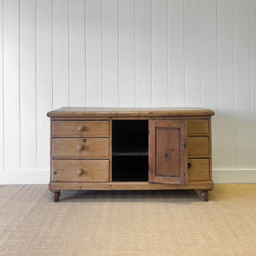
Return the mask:
[[118,0],[102,1],[102,106],[118,107]]

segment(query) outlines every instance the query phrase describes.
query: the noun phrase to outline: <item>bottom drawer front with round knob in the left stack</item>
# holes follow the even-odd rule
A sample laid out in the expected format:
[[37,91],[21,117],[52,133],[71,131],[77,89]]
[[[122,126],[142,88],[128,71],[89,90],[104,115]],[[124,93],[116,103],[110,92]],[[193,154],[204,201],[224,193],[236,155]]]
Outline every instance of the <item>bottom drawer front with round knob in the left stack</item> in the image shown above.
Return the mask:
[[52,160],[51,179],[55,182],[107,183],[109,160]]

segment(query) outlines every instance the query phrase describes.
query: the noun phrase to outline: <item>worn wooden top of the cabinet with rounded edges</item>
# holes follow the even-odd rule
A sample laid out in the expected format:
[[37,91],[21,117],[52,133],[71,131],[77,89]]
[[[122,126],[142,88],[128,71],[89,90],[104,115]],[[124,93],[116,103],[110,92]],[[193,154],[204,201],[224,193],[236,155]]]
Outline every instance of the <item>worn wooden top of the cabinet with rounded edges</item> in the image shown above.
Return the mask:
[[211,116],[214,112],[203,108],[81,108],[63,107],[47,113],[52,118],[81,117],[175,117]]

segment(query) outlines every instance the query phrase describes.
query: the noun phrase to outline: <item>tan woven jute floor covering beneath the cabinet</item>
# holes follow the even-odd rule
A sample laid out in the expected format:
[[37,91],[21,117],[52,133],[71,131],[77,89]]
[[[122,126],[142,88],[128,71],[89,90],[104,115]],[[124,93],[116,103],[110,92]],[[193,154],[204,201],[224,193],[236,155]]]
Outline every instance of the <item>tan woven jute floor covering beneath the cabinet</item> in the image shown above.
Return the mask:
[[256,255],[256,184],[184,191],[0,186],[0,255]]

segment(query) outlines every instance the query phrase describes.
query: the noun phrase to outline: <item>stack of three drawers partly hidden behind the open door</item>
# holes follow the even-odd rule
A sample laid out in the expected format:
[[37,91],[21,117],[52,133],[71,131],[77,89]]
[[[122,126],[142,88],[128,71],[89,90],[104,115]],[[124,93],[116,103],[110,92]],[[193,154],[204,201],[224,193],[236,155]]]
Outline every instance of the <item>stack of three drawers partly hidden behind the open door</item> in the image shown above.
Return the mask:
[[189,182],[211,180],[211,131],[209,119],[188,119],[187,125]]

